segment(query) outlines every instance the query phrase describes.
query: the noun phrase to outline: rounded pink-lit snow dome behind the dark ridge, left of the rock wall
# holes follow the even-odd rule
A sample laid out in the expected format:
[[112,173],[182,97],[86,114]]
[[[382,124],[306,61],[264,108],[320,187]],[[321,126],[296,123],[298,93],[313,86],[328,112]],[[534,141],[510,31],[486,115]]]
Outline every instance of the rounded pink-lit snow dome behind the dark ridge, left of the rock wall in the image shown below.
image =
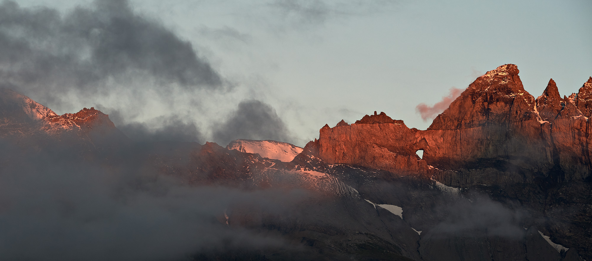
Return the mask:
[[246,153],[258,153],[261,157],[281,160],[282,162],[291,162],[303,150],[301,147],[275,140],[244,139],[231,141],[226,146],[226,149]]

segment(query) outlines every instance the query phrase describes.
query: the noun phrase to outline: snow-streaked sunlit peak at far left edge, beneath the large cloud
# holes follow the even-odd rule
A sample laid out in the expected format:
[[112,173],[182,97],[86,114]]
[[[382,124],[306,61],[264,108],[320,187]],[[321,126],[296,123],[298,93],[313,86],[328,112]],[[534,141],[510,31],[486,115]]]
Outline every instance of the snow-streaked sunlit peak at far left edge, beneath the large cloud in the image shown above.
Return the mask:
[[41,120],[49,116],[57,116],[50,108],[47,108],[25,95],[18,94],[9,89],[0,88],[0,107],[6,111],[22,111],[31,120]]

